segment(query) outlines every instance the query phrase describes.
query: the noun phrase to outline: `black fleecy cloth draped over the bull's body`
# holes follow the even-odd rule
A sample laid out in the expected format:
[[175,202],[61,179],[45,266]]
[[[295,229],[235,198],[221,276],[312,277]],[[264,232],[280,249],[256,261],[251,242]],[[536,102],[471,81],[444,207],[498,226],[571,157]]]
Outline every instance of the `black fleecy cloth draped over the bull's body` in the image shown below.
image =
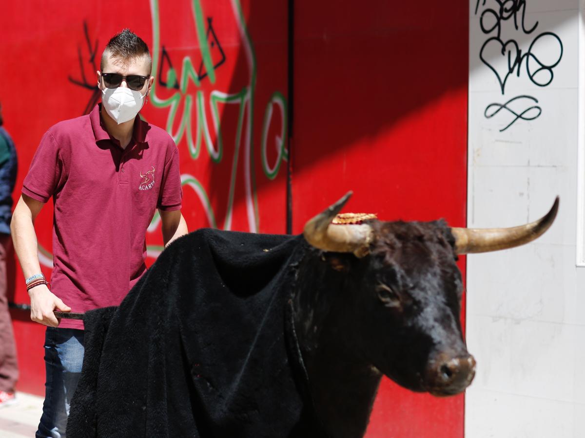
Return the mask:
[[87,312],[68,438],[324,436],[290,294],[301,236],[199,230]]

